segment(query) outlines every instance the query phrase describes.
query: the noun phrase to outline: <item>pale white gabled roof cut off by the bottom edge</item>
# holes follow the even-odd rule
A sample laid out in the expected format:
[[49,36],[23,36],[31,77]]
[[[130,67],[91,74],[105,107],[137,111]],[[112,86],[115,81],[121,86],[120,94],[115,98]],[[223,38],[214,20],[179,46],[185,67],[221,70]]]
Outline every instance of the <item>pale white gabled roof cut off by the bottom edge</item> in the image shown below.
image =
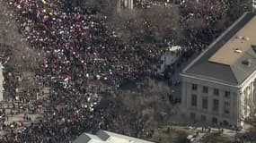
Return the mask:
[[154,143],[118,133],[99,130],[96,135],[83,133],[73,143]]

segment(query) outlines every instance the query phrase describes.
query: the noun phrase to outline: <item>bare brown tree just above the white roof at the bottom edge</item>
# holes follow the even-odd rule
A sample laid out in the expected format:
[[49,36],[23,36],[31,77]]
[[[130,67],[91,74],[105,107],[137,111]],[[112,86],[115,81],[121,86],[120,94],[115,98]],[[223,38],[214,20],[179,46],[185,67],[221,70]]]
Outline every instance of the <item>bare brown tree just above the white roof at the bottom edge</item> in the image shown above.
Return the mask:
[[118,118],[110,123],[110,130],[141,136],[148,124],[159,123],[160,113],[171,111],[172,105],[166,100],[168,93],[170,88],[155,80],[145,80],[139,82],[137,88],[120,90],[112,99],[111,112]]

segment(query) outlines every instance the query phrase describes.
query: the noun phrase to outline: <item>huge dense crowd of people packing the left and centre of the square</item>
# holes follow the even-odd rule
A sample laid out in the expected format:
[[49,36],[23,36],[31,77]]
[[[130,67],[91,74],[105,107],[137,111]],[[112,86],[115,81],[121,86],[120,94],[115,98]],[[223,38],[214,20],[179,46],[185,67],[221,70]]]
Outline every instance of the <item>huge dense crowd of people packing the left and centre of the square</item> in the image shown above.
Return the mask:
[[[56,94],[39,102],[46,110],[40,122],[7,134],[0,141],[70,142],[84,131],[108,130],[108,122],[115,121],[115,115],[95,108],[100,94],[106,87],[119,88],[123,80],[136,79],[136,73],[159,55],[156,46],[145,49],[136,41],[120,43],[106,24],[108,17],[98,7],[81,7],[66,0],[4,1],[16,13],[24,40],[32,49],[43,51],[37,77]],[[200,36],[206,35],[211,34]],[[192,42],[188,46],[206,46],[197,39]],[[191,53],[189,49],[186,51]],[[181,52],[185,58],[186,51]]]

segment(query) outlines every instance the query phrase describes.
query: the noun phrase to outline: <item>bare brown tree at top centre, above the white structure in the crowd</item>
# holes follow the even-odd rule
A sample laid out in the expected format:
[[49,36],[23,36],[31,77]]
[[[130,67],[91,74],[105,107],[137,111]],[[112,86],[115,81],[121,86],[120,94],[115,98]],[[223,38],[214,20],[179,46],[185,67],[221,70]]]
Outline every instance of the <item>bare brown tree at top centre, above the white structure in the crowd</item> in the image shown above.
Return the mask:
[[179,40],[181,37],[180,11],[176,5],[155,5],[146,9],[142,16],[148,22],[148,30],[158,41],[164,38]]

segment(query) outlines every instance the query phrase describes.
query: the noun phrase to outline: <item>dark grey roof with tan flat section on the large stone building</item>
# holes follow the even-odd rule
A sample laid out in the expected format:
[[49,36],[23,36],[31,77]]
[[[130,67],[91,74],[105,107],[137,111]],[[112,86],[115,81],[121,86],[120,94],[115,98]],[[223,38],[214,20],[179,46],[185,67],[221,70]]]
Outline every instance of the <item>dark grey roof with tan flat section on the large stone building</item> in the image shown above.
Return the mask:
[[256,16],[244,13],[183,74],[240,85],[256,70]]

